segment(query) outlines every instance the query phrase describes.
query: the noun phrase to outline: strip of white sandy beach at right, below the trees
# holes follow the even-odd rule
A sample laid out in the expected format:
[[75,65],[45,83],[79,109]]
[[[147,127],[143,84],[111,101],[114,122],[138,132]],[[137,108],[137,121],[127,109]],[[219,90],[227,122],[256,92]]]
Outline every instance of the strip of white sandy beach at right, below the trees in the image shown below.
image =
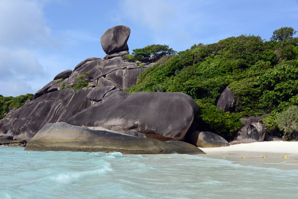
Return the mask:
[[245,155],[245,154],[262,154],[266,153],[280,153],[298,155],[297,141],[263,141],[254,143],[243,143],[225,147],[216,148],[200,148],[207,154],[217,155]]

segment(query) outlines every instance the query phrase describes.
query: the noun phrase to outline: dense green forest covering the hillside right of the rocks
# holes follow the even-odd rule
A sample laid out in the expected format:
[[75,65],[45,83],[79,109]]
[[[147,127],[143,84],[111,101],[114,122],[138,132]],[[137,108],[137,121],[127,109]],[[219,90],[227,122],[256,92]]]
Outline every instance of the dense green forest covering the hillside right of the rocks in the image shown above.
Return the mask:
[[[298,105],[298,38],[292,36],[264,41],[241,35],[194,45],[160,59],[128,92],[187,93],[199,106],[193,126],[228,138],[241,126],[240,118],[277,114]],[[234,113],[216,108],[226,87],[235,96]],[[273,121],[272,128],[277,126]]]

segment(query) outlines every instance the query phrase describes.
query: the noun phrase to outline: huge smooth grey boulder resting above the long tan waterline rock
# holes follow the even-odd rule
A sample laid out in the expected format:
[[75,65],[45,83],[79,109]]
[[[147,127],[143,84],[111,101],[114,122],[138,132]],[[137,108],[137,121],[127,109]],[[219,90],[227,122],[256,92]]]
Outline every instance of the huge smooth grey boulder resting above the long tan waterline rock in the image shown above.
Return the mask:
[[136,131],[161,140],[180,140],[196,112],[197,104],[184,93],[117,92],[65,122],[121,133]]

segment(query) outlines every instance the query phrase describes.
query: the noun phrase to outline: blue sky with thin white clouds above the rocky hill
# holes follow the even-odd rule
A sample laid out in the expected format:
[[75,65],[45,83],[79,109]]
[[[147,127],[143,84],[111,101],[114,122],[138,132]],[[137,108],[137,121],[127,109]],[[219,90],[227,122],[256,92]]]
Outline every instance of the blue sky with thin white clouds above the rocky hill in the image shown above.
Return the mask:
[[281,27],[298,30],[298,0],[0,0],[0,94],[34,94],[86,58],[103,58],[100,37],[116,25],[130,27],[130,53],[241,34],[269,41]]

